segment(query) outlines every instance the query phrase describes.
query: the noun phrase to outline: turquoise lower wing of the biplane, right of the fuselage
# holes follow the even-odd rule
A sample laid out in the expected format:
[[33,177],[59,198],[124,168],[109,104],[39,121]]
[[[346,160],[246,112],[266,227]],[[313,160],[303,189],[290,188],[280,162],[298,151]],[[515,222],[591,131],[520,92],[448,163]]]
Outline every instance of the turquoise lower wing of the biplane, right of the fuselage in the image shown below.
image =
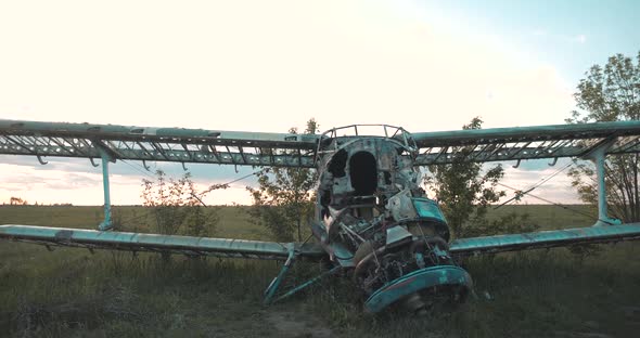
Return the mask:
[[640,223],[461,238],[451,242],[449,248],[456,256],[470,256],[631,239],[640,239]]

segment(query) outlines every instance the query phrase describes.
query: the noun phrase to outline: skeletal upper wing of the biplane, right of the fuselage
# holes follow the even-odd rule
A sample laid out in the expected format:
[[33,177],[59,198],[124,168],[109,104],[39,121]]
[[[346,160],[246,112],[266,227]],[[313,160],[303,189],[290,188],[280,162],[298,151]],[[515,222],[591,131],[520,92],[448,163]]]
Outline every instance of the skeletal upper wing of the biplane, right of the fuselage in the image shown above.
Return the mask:
[[607,154],[640,152],[640,121],[470,129],[412,133],[417,166],[588,155],[614,142]]

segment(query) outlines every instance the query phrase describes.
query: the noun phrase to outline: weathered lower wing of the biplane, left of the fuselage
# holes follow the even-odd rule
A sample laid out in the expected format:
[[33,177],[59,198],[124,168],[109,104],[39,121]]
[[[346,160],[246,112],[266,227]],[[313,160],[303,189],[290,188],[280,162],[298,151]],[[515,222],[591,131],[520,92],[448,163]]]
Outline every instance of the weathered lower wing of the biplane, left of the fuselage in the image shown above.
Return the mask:
[[309,258],[325,255],[312,245],[228,238],[159,235],[117,231],[49,227],[35,225],[0,225],[0,238],[47,246],[85,247],[127,251],[286,260],[290,251]]

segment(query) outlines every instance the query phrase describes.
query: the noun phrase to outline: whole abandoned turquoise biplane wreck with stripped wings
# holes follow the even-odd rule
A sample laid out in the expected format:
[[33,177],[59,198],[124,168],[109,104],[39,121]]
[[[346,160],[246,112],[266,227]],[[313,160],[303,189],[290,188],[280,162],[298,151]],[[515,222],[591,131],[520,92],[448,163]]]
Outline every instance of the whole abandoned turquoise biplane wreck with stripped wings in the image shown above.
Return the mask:
[[[372,129],[376,129],[371,132]],[[460,256],[640,238],[640,223],[607,217],[606,155],[640,151],[640,121],[614,121],[409,133],[385,125],[349,126],[323,134],[235,132],[114,125],[0,120],[0,154],[101,159],[104,221],[99,230],[0,225],[0,238],[190,256],[283,260],[267,287],[269,303],[338,271],[364,292],[364,309],[402,303],[413,311],[435,298],[463,301],[471,276]],[[420,187],[420,166],[457,161],[586,158],[598,174],[598,220],[591,227],[449,242],[437,203]],[[270,243],[125,233],[111,229],[108,164],[116,160],[302,167],[318,170],[311,230],[317,244]],[[327,259],[321,275],[279,291],[298,258]]]

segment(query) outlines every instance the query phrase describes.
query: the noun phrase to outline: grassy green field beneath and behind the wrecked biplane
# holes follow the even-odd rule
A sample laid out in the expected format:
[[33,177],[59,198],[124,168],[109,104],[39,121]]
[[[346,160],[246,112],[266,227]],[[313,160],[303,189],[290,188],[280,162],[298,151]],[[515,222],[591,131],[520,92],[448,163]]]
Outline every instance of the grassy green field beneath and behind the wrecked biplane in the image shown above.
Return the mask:
[[[593,223],[553,206],[509,206],[495,214],[508,211],[529,212],[542,229]],[[117,212],[123,230],[151,231],[142,208]],[[245,207],[218,212],[216,236],[269,239]],[[0,224],[91,229],[101,218],[100,207],[0,207]],[[0,336],[637,337],[640,244],[601,247],[592,257],[561,248],[470,259],[463,265],[476,297],[452,313],[401,317],[362,313],[348,278],[264,308],[263,291],[279,271],[271,261],[166,261],[0,242]],[[320,269],[307,263],[298,273]]]

